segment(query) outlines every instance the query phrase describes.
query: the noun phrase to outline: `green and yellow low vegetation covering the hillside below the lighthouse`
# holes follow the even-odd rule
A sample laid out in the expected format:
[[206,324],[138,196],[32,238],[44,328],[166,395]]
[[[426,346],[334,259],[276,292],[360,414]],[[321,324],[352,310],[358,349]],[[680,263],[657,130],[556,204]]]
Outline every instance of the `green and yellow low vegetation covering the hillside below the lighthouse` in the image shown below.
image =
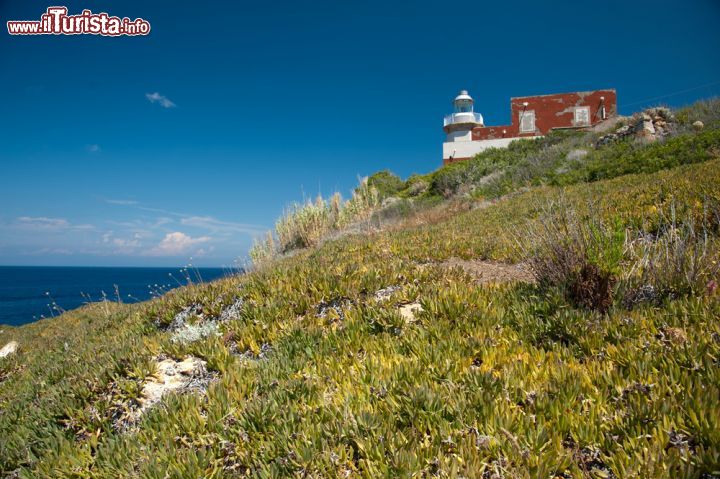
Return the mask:
[[[289,216],[325,226],[283,240],[279,227],[247,275],[0,328],[0,346],[19,344],[0,359],[0,473],[718,477],[720,159],[706,125],[599,148],[557,181],[520,182],[513,165],[586,139],[517,144],[409,179],[398,195],[431,205],[334,239],[342,211],[347,225],[378,210],[318,201]],[[509,176],[492,191],[512,195],[460,182],[468,194],[439,203],[454,175],[494,171]],[[305,221],[289,216],[279,225]],[[529,264],[536,282],[479,285],[451,258]],[[182,341],[179,313],[195,328]],[[188,355],[206,361],[207,390],[119,427],[158,359]]]

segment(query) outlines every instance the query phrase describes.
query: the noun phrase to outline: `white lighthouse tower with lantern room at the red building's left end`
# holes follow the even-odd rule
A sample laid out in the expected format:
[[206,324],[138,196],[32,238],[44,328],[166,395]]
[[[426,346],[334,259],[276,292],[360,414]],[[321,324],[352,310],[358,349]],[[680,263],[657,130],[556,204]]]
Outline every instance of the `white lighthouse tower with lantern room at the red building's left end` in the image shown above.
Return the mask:
[[467,90],[461,90],[453,100],[454,112],[445,117],[443,130],[447,133],[443,143],[443,163],[472,158],[478,153],[472,141],[472,129],[484,126],[480,113],[474,111],[475,101]]

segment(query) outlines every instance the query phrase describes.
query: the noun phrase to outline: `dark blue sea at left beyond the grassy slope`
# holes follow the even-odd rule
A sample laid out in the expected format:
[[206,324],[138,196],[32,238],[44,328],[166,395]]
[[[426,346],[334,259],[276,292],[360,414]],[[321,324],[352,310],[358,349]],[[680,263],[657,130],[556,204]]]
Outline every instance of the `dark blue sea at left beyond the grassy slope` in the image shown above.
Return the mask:
[[120,299],[131,303],[186,284],[186,275],[197,282],[198,275],[211,281],[229,274],[223,268],[185,272],[179,268],[0,266],[0,324],[17,326],[57,315],[59,308],[70,310],[88,300],[102,300],[103,291],[107,299],[116,301],[115,285]]

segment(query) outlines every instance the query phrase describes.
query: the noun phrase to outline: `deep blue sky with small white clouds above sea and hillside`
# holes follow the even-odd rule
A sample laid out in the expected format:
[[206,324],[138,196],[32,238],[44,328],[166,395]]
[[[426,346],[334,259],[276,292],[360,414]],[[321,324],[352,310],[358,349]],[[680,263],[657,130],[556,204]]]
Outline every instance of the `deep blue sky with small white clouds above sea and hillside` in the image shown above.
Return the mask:
[[438,167],[461,88],[489,125],[720,93],[716,0],[71,1],[152,32],[7,34],[54,4],[0,0],[0,264],[232,264],[291,201]]

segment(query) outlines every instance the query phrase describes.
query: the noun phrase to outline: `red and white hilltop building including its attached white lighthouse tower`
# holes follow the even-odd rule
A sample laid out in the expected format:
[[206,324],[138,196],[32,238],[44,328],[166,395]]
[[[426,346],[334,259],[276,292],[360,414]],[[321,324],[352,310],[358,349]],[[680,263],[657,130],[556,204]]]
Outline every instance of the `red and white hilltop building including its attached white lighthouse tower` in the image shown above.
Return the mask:
[[485,126],[473,110],[474,101],[462,91],[455,113],[445,117],[443,163],[466,160],[487,148],[502,148],[518,138],[534,138],[555,129],[586,128],[617,114],[615,90],[595,90],[510,99],[510,124]]

